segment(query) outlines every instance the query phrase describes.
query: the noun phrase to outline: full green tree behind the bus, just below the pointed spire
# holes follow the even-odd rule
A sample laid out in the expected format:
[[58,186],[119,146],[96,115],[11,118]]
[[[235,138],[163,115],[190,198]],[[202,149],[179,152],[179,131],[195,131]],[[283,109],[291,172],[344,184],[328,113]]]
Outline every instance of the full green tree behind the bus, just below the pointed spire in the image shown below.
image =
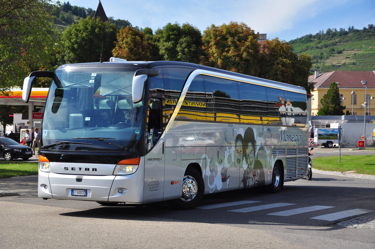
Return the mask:
[[63,33],[63,58],[66,63],[108,61],[116,40],[114,24],[100,18],[81,18]]

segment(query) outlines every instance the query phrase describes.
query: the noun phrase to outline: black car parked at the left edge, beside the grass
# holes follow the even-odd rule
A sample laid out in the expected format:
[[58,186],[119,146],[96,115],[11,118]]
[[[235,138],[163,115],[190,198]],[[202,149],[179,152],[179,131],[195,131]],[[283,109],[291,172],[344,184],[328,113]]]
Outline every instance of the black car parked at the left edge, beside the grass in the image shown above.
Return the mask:
[[13,139],[0,137],[0,156],[4,157],[7,161],[20,157],[27,160],[33,156],[33,150],[26,145],[19,144]]

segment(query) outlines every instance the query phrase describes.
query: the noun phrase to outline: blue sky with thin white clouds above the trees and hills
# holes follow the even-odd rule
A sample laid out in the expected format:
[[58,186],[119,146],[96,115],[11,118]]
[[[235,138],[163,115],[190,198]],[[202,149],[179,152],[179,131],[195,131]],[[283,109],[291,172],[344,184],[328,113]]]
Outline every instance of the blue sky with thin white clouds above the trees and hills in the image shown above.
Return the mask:
[[[67,0],[60,0],[62,2]],[[167,23],[189,23],[203,32],[214,24],[243,22],[255,32],[290,41],[327,28],[375,24],[375,0],[101,0],[107,17],[153,31]],[[96,10],[98,0],[69,0]]]

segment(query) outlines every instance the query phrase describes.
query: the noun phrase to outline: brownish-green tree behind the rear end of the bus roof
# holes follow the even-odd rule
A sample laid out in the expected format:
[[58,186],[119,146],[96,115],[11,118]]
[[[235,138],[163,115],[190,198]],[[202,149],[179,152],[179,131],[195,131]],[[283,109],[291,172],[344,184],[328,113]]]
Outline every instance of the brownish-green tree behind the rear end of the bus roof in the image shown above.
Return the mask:
[[308,95],[314,85],[308,82],[311,57],[297,55],[293,46],[278,38],[264,41],[260,53],[260,77],[304,87]]

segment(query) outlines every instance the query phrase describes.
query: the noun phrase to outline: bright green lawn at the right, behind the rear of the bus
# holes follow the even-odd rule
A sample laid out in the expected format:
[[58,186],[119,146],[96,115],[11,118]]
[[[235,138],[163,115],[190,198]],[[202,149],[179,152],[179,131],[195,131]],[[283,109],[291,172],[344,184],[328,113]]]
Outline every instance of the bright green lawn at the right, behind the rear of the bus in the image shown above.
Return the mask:
[[375,160],[373,155],[315,157],[312,167],[327,171],[355,171],[357,174],[375,175]]

